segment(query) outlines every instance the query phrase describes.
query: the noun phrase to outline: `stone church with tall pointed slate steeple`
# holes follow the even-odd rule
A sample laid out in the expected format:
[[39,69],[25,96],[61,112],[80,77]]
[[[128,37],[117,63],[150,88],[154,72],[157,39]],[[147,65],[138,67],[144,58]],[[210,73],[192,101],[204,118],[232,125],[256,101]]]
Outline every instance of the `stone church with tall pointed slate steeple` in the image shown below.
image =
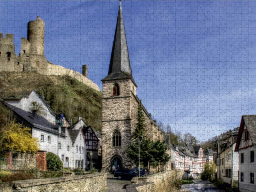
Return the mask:
[[[120,1],[116,31],[111,52],[108,76],[102,80],[102,171],[110,171],[113,165],[120,168],[132,168],[132,161],[125,148],[132,142],[132,132],[137,124],[139,98],[136,95],[138,85],[132,77],[128,46],[124,30],[122,4]],[[166,138],[156,126],[146,108],[142,106],[146,130],[150,140]],[[171,154],[168,149],[167,153]],[[169,155],[170,155],[169,154]],[[171,169],[171,159],[166,164]]]

